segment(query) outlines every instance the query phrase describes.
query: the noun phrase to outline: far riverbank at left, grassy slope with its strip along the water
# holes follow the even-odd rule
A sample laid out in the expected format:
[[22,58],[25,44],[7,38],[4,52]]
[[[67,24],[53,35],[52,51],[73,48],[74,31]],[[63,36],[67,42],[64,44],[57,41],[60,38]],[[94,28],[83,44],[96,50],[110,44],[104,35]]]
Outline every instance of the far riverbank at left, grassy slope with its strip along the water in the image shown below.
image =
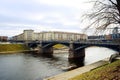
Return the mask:
[[0,54],[30,51],[34,50],[30,50],[29,47],[24,44],[0,44]]

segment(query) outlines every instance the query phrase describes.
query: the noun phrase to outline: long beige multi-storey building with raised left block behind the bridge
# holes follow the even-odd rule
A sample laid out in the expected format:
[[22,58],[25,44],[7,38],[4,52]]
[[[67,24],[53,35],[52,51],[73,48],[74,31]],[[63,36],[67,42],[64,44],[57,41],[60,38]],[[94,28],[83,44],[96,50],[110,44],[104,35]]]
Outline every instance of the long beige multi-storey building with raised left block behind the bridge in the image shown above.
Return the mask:
[[22,34],[13,36],[13,40],[85,40],[87,35],[71,32],[39,32],[35,33],[34,30],[24,30]]

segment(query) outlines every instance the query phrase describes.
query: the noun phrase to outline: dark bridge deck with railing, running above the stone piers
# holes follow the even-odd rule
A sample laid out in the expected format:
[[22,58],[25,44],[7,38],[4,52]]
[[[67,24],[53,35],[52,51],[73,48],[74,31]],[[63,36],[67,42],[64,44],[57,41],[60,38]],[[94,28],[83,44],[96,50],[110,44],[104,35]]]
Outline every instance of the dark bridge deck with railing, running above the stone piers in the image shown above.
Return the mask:
[[36,41],[36,42],[31,42],[31,44],[36,44],[42,48],[50,48],[56,44],[63,44],[66,45],[68,47],[71,47],[70,44],[74,44],[74,49],[80,49],[80,47],[88,47],[88,46],[101,46],[101,47],[120,47],[119,43],[115,43],[115,42],[99,42],[99,41],[79,41],[79,42],[75,42],[75,41]]

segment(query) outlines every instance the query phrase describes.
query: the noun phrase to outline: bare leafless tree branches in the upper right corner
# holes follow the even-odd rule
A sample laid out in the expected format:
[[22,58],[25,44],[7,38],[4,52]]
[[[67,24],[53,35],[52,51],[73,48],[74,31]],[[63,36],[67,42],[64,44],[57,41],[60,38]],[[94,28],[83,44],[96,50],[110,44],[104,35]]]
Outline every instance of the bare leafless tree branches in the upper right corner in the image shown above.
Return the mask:
[[105,31],[106,28],[120,25],[120,0],[96,0],[94,10],[86,14],[85,18],[91,20],[86,29],[94,27],[97,31]]

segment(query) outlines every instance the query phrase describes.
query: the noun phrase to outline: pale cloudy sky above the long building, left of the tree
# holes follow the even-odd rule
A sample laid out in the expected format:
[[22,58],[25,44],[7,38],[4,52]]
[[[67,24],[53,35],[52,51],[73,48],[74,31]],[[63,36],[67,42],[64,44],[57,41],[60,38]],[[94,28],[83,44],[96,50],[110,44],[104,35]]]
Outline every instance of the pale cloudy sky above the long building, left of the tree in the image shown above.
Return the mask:
[[0,36],[26,29],[81,33],[81,17],[91,8],[88,0],[0,0]]

